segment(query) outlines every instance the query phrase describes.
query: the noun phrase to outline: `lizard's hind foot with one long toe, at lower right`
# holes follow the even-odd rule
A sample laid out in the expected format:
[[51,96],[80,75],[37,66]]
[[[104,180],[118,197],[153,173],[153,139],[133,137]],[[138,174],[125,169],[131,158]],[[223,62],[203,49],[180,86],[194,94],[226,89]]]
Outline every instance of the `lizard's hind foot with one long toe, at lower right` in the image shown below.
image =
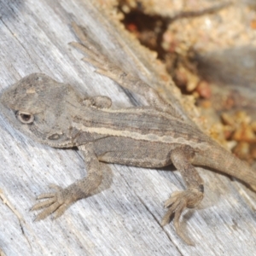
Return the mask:
[[172,215],[174,215],[174,226],[177,235],[180,236],[187,244],[194,246],[194,242],[183,233],[179,223],[179,218],[186,207],[196,207],[203,198],[203,192],[199,189],[187,189],[185,191],[177,191],[172,193],[172,196],[165,202],[165,207],[168,207],[166,215],[162,219],[161,225],[164,226],[170,223]]

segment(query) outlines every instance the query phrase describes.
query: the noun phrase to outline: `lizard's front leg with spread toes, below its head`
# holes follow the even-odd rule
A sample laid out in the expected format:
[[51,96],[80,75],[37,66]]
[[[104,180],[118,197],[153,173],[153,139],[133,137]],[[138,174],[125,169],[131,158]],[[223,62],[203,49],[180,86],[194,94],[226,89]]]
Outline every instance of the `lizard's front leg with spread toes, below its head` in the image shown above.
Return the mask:
[[32,207],[32,211],[44,209],[35,220],[47,218],[53,212],[55,214],[54,218],[60,217],[75,201],[90,195],[102,182],[103,164],[97,159],[92,143],[79,146],[79,150],[84,153],[87,176],[65,189],[57,185],[50,185],[49,187],[55,189],[56,192],[44,193],[38,196],[37,199],[46,200],[40,201]]

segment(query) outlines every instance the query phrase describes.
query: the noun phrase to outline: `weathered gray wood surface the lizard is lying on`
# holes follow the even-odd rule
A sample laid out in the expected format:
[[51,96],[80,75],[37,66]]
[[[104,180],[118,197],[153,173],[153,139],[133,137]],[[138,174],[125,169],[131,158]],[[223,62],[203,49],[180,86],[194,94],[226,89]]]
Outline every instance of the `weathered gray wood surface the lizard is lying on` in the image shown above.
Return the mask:
[[[68,45],[76,40],[70,28],[75,20],[89,26],[113,58],[127,61],[128,69],[154,70],[143,57],[128,56],[137,49],[120,43],[117,28],[91,1],[2,0],[0,12],[1,89],[42,72],[90,96],[110,96],[115,108],[143,102],[93,73],[94,68],[80,61],[82,55]],[[140,75],[154,84],[154,72]],[[5,255],[255,254],[256,196],[229,177],[200,169],[205,198],[198,209],[183,215],[184,228],[196,243],[189,247],[172,224],[160,227],[163,202],[184,188],[172,167],[156,171],[111,165],[99,194],[75,203],[54,221],[33,222],[36,212],[29,209],[49,183],[67,186],[85,175],[81,155],[34,143],[0,115],[0,157],[0,247]]]

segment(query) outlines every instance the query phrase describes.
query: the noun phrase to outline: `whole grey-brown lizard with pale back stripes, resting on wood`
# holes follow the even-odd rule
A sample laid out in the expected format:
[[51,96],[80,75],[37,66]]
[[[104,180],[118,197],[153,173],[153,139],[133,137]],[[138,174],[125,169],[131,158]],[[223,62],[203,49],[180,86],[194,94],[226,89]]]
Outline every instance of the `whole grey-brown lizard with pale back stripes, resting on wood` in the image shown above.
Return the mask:
[[84,154],[86,177],[67,188],[50,185],[54,192],[38,195],[32,210],[42,211],[35,220],[51,214],[58,218],[74,202],[93,193],[102,181],[102,170],[109,168],[106,163],[146,168],[173,164],[181,172],[186,189],[166,200],[161,225],[173,217],[177,235],[194,245],[184,234],[180,217],[186,208],[198,206],[204,196],[204,183],[195,166],[224,172],[251,188],[256,186],[255,172],[197,125],[184,120],[150,85],[109,61],[75,23],[73,30],[81,43],[71,44],[84,52],[84,61],[96,67],[96,73],[146,97],[150,106],[113,109],[108,96],[84,96],[72,85],[44,73],[32,73],[3,90],[2,112],[17,130],[38,143],[77,147]]

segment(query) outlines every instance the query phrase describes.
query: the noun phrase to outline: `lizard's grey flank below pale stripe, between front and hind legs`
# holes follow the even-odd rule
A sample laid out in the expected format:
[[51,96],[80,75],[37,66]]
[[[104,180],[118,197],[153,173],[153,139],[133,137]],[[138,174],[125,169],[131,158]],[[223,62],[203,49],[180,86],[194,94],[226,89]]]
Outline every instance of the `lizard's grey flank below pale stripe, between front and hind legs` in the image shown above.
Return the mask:
[[126,166],[163,167],[172,163],[175,144],[152,143],[129,137],[106,137],[94,143],[98,160]]

